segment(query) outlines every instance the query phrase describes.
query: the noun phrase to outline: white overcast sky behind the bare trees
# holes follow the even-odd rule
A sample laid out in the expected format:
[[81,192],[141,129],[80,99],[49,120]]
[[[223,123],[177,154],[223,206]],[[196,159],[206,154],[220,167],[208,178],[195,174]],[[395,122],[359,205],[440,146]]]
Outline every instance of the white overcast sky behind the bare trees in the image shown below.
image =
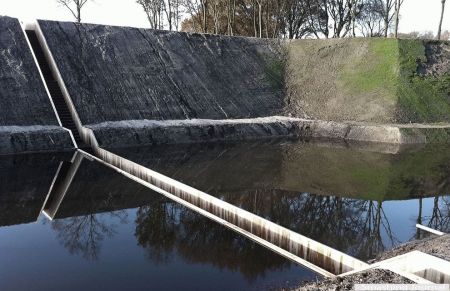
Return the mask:
[[[449,6],[449,5],[447,5]],[[405,0],[401,10],[400,32],[437,32],[441,0]],[[0,15],[20,18],[73,21],[73,16],[55,0],[0,0]],[[134,0],[91,0],[82,10],[82,22],[149,27],[142,8]],[[450,30],[450,7],[442,30]]]

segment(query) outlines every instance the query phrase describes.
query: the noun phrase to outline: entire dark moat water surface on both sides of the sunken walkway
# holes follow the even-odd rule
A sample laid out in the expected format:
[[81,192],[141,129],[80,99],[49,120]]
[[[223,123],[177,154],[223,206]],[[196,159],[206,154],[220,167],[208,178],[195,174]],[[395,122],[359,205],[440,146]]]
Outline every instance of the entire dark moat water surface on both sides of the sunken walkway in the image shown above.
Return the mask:
[[[114,151],[363,260],[422,235],[417,221],[450,230],[447,147]],[[317,276],[97,162],[76,167],[72,155],[0,156],[0,290],[264,290]]]

